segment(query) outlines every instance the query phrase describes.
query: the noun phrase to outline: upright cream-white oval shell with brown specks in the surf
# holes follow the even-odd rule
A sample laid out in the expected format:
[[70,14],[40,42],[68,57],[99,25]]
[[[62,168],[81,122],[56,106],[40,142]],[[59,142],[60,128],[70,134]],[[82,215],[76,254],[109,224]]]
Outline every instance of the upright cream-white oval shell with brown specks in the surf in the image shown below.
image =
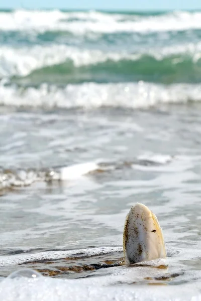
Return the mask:
[[123,233],[126,264],[166,257],[162,229],[155,214],[137,203],[126,217]]

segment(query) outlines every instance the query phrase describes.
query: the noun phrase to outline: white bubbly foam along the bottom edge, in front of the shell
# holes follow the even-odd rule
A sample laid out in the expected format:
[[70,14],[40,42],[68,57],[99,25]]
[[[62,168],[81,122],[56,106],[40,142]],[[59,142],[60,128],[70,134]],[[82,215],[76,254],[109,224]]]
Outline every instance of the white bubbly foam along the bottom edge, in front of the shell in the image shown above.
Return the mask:
[[[134,269],[133,269],[134,270]],[[146,275],[146,274],[145,274]],[[93,277],[86,279],[6,279],[0,283],[2,301],[94,301],[94,300],[201,300],[199,284],[183,285],[115,285],[109,283],[110,277]],[[122,275],[122,278],[124,275]],[[105,286],[107,285],[107,286]]]

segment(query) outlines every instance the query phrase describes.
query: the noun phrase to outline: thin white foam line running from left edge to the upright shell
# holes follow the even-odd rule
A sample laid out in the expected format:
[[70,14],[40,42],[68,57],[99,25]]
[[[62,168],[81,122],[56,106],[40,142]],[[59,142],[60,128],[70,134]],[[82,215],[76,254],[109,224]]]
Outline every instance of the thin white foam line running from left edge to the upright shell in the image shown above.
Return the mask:
[[99,247],[90,249],[79,249],[79,250],[68,250],[68,251],[47,251],[40,252],[36,254],[22,254],[22,255],[12,255],[12,256],[2,256],[0,257],[0,266],[22,264],[24,262],[30,262],[35,260],[43,259],[60,259],[71,256],[78,257],[90,257],[94,255],[109,254],[113,252],[122,252],[122,247]]

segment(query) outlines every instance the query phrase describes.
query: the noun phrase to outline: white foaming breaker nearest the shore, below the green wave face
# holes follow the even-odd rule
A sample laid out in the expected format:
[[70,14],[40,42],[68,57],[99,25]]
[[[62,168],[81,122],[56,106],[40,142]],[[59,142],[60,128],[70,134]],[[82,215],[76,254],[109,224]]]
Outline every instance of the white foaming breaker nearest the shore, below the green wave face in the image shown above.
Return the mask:
[[168,103],[201,100],[199,84],[154,83],[83,83],[65,88],[42,84],[39,88],[21,89],[15,85],[0,85],[0,105],[43,108],[94,109],[99,107],[147,108]]

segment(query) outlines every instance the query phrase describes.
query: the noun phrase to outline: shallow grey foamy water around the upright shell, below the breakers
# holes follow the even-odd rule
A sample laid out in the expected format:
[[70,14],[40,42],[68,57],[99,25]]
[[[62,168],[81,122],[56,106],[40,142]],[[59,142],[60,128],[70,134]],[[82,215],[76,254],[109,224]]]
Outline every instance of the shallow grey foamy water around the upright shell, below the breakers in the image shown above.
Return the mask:
[[[199,283],[198,105],[21,111],[1,117],[2,179],[7,183],[0,198],[2,277],[30,267],[79,281],[101,276],[103,286]],[[82,170],[90,162],[95,164]],[[70,165],[75,172],[67,172],[65,181],[51,180],[52,172],[59,176]],[[4,178],[8,174],[12,182]],[[26,177],[30,186],[23,186]],[[159,219],[167,268],[119,265],[125,216],[136,202]]]

